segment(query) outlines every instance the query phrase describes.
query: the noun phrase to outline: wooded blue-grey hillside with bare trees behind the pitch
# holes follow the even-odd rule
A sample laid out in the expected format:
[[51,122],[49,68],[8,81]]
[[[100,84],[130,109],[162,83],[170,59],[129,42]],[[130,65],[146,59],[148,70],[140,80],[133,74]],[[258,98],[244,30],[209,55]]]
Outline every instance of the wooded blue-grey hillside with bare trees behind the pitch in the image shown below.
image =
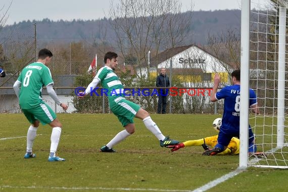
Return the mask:
[[[171,0],[166,1],[171,3]],[[137,6],[143,8],[145,5]],[[154,57],[171,47],[188,44],[207,48],[210,46],[210,50],[213,51],[212,43],[223,43],[216,42],[213,37],[218,36],[217,39],[221,39],[227,31],[228,37],[235,37],[229,39],[231,43],[239,39],[240,10],[180,13],[180,5],[175,2],[167,7],[167,12],[162,12],[157,6],[147,8],[147,13],[153,9],[155,15],[137,13],[137,17],[131,17],[130,15],[135,13],[125,15],[127,10],[119,12],[118,10],[123,9],[115,9],[112,10],[110,18],[99,20],[43,19],[2,26],[0,66],[10,73],[17,73],[29,61],[35,59],[37,52],[35,50],[46,47],[54,53],[54,62],[51,66],[53,74],[83,74],[95,54],[98,55],[98,67],[100,67],[103,65],[101,61],[104,54],[111,50],[119,53],[120,65],[124,62],[139,65],[147,63],[148,51],[151,51],[151,57]],[[145,17],[146,15],[148,16]],[[219,50],[214,51],[216,56],[229,59],[217,51]]]

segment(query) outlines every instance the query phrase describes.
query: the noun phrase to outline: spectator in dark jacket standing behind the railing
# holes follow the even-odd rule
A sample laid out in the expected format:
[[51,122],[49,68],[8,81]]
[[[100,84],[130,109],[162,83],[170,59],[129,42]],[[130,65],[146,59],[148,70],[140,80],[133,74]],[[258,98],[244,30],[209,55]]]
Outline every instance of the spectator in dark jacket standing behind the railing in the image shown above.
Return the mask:
[[[160,75],[157,76],[156,79],[156,86],[157,87],[169,87],[170,86],[170,81],[168,76],[166,75],[166,70],[164,68],[161,69]],[[167,104],[167,94],[168,94],[168,89],[166,88],[161,88],[158,89],[158,109],[157,113],[166,113],[166,104]]]

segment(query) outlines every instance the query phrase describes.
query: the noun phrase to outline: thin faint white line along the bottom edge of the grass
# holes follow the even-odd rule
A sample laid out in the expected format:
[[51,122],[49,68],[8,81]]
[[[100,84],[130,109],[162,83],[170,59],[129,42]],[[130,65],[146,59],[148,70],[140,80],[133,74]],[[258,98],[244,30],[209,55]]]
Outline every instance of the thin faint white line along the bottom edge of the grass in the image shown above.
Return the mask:
[[0,188],[33,188],[33,189],[64,189],[64,190],[129,190],[129,191],[165,191],[165,192],[191,192],[191,190],[169,190],[157,188],[107,188],[107,187],[58,187],[58,186],[9,186],[4,185]]

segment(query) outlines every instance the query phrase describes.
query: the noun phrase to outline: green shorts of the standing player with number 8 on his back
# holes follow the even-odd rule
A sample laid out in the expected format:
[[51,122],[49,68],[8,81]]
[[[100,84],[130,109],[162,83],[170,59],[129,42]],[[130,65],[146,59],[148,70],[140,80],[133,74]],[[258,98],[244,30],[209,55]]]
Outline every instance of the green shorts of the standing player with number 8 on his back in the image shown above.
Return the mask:
[[21,109],[25,117],[32,124],[36,120],[42,125],[49,124],[56,119],[56,114],[47,104],[43,103],[33,109]]

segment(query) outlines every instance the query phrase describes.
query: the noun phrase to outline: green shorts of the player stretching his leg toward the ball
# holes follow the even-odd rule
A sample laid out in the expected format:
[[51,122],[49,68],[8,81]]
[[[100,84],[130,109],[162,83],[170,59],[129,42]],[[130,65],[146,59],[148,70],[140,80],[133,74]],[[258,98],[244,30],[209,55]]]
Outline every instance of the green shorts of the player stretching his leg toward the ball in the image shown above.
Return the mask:
[[133,119],[139,109],[140,106],[137,104],[122,99],[112,106],[111,111],[118,117],[122,126],[125,127],[129,123],[134,123]]

